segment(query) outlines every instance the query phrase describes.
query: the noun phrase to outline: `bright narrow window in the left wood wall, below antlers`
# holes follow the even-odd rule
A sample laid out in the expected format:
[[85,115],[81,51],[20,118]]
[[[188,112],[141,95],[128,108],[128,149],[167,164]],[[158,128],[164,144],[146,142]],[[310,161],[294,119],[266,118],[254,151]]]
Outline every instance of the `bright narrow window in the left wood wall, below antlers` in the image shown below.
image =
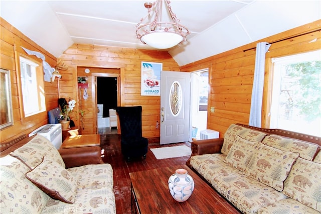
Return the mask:
[[42,66],[20,56],[20,77],[24,116],[46,111]]

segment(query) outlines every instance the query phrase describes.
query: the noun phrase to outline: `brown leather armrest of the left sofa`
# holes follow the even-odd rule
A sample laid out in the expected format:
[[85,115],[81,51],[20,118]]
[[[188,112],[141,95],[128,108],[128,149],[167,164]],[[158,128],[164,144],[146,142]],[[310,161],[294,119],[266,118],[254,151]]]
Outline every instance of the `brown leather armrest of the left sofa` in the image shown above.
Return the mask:
[[104,163],[101,159],[100,146],[59,149],[58,151],[66,168]]

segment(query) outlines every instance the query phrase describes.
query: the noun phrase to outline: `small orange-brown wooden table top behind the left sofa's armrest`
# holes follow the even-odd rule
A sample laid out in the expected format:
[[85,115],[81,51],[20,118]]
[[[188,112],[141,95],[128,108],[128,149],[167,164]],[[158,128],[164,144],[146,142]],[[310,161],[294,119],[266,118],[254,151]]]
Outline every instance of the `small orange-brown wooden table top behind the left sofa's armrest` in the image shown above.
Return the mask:
[[69,136],[64,140],[60,149],[85,147],[85,146],[100,146],[100,135],[76,135]]

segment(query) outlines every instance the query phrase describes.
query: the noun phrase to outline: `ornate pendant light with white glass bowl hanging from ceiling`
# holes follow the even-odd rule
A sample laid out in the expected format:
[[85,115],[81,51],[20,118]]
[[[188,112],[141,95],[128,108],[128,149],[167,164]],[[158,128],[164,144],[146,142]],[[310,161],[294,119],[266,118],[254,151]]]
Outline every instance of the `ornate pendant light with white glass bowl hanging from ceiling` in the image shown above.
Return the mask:
[[[165,2],[170,21],[162,22],[162,6]],[[147,16],[136,25],[136,36],[143,44],[157,49],[168,49],[186,41],[189,30],[180,25],[180,20],[173,13],[169,0],[157,0],[145,3]]]

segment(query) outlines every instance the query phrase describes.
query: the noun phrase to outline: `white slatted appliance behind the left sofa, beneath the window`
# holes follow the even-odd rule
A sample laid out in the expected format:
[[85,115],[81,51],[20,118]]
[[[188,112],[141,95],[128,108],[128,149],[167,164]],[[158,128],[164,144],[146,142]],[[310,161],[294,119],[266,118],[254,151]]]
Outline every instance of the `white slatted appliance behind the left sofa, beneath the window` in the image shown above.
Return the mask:
[[59,149],[62,144],[61,124],[47,124],[39,127],[29,134],[29,137],[36,134],[42,135],[47,138],[56,149]]

